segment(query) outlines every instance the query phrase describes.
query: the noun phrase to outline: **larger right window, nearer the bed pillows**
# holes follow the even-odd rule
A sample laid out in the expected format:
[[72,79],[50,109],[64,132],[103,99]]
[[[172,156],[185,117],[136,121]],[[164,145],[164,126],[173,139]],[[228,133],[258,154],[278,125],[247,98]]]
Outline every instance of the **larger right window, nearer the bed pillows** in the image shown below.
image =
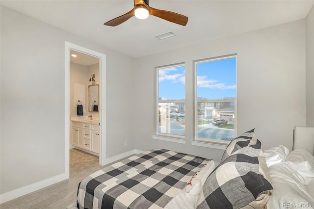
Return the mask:
[[195,74],[195,139],[227,144],[235,137],[236,57],[197,61]]

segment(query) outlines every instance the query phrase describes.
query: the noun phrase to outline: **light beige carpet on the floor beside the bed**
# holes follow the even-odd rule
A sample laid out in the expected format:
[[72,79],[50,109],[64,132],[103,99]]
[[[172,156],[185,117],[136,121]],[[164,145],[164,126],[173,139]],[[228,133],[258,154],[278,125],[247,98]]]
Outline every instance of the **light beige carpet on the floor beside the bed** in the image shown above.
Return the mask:
[[0,209],[65,209],[76,202],[78,183],[104,167],[97,165],[88,170],[72,174],[68,180],[2,203]]

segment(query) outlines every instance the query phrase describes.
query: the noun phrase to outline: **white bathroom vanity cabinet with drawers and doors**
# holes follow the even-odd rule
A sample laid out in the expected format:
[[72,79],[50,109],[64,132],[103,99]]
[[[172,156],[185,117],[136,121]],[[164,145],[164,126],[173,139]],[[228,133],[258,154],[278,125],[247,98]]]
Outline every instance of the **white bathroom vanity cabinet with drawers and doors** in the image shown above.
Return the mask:
[[72,122],[72,145],[99,154],[99,125]]

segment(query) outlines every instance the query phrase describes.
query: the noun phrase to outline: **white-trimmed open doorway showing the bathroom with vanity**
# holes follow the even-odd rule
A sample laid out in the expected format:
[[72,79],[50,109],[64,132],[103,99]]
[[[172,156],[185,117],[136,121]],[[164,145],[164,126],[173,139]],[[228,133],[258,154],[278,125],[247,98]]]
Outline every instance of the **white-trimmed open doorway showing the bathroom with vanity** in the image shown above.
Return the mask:
[[104,162],[105,54],[65,42],[65,173]]

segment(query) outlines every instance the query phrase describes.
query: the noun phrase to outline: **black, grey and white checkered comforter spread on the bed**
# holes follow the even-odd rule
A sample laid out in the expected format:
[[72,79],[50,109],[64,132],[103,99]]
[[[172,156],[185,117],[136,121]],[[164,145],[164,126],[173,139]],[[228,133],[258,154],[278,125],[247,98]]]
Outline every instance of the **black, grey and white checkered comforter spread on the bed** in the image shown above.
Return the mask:
[[78,209],[160,209],[209,159],[151,150],[114,163],[78,185]]

